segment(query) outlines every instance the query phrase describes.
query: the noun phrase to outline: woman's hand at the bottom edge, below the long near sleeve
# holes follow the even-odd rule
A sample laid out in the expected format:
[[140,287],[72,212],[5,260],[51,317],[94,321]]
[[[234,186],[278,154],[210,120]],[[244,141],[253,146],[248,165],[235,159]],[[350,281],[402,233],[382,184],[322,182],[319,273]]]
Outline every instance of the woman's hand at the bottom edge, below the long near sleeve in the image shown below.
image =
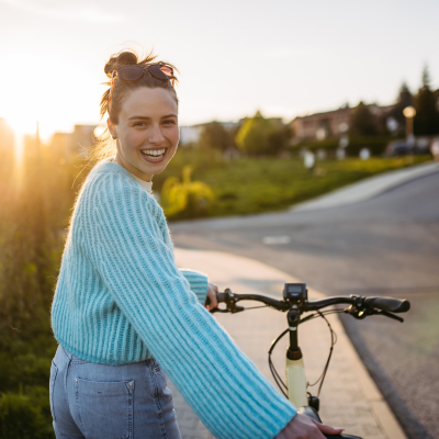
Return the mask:
[[325,439],[325,435],[341,435],[342,428],[333,428],[319,424],[306,415],[297,414],[286,427],[277,436],[277,439]]

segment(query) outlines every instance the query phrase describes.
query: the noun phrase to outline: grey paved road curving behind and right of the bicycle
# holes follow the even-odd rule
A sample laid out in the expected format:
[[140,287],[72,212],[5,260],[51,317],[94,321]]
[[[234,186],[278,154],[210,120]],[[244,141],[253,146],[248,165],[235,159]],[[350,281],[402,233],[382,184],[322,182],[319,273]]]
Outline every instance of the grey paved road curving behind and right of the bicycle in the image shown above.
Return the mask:
[[338,209],[173,223],[171,230],[179,247],[259,259],[327,294],[410,300],[404,324],[344,324],[407,436],[439,437],[439,172]]

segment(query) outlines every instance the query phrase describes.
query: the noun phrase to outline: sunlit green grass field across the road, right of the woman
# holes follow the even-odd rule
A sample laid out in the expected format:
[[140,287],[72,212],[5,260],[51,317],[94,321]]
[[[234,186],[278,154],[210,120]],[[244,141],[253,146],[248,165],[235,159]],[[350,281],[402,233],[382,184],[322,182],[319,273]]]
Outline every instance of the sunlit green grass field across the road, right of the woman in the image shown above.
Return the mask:
[[215,194],[210,216],[246,215],[284,210],[380,172],[430,159],[417,156],[325,160],[318,162],[314,172],[299,159],[239,159],[216,166],[195,160],[192,179],[207,183]]

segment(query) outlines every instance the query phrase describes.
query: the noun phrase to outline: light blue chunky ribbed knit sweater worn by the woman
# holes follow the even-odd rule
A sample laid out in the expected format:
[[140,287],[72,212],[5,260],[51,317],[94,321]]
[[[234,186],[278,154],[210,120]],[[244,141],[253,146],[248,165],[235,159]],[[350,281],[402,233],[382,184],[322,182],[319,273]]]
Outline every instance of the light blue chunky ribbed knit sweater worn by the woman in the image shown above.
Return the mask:
[[120,165],[98,165],[64,250],[56,339],[99,363],[154,356],[216,438],[274,438],[296,409],[200,304],[206,289],[203,274],[177,268],[154,198]]

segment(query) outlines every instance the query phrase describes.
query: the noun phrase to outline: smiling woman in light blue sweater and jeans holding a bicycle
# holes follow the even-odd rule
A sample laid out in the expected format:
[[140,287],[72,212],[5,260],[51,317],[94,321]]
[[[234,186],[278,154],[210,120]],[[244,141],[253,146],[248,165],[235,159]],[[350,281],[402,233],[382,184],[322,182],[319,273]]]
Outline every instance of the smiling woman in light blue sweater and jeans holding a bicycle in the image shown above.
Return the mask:
[[179,438],[160,367],[217,438],[337,434],[296,414],[202,306],[206,294],[216,305],[215,286],[176,266],[150,195],[179,142],[176,78],[154,59],[125,50],[105,65],[101,113],[115,156],[88,176],[64,250],[52,309],[56,436]]

